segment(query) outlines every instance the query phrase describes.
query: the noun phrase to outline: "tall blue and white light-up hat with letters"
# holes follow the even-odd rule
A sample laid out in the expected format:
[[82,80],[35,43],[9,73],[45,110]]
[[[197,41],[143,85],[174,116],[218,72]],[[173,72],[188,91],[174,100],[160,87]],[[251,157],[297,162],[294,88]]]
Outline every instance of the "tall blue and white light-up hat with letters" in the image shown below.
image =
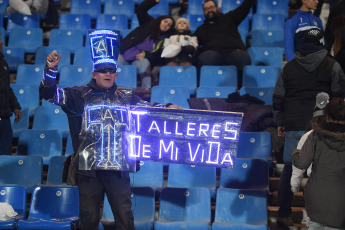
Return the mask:
[[93,70],[117,69],[120,52],[120,32],[116,30],[89,30]]

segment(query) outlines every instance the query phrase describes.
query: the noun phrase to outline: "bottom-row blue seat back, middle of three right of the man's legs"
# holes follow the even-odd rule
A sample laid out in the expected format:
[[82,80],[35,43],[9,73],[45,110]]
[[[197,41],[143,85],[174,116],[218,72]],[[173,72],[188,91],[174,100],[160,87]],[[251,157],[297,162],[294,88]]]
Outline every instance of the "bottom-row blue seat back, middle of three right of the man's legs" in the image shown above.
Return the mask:
[[207,188],[163,188],[159,221],[211,221],[211,199]]

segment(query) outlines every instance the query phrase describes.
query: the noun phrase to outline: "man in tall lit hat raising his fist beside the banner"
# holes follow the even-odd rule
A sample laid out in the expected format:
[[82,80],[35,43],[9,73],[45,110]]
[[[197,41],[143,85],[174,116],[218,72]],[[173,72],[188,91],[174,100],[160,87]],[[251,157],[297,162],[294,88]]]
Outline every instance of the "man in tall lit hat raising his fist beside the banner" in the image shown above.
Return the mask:
[[[93,30],[89,32],[89,37],[93,61],[90,82],[72,88],[57,86],[55,81],[61,55],[53,51],[46,58],[39,92],[43,99],[61,106],[68,118],[74,155],[77,156],[76,185],[79,188],[81,229],[98,229],[105,194],[113,210],[116,229],[134,229],[129,178],[129,171],[134,170],[127,167],[125,156],[121,154],[122,149],[119,149],[122,148],[119,146],[122,146],[123,122],[117,115],[112,115],[114,111],[109,108],[152,104],[135,96],[131,89],[118,87],[115,83],[118,77],[119,33]],[[180,108],[171,104],[156,106]],[[102,127],[109,125],[114,129],[115,137],[103,134]],[[112,144],[104,146],[104,143]],[[97,168],[99,164],[96,159],[104,151],[105,154],[115,154],[114,158],[121,161],[108,170]]]

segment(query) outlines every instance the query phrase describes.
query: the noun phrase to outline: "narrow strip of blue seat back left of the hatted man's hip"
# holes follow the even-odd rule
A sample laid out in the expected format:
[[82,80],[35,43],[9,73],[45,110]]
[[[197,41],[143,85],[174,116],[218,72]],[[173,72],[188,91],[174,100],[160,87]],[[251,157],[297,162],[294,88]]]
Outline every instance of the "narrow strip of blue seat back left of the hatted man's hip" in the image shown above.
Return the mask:
[[65,156],[52,156],[48,163],[47,185],[66,184],[61,181],[63,164],[66,160]]

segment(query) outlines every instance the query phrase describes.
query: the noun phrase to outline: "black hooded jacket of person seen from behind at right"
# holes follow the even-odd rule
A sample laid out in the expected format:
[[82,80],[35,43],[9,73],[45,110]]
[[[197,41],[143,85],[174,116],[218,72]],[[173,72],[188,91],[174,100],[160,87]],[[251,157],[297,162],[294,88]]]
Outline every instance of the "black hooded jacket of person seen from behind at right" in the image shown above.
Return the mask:
[[318,93],[331,97],[345,93],[344,72],[326,49],[295,56],[282,69],[273,92],[274,119],[286,131],[306,130]]

